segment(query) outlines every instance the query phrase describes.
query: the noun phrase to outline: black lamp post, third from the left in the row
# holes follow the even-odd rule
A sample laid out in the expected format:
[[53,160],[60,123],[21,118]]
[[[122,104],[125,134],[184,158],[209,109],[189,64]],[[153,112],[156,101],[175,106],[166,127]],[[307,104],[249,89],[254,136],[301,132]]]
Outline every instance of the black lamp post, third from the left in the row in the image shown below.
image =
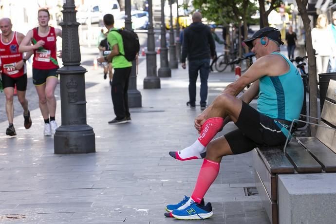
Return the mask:
[[152,13],[152,0],[148,0],[148,14],[149,14],[149,25],[148,25],[148,38],[147,38],[147,49],[146,52],[146,65],[147,65],[147,76],[144,79],[144,89],[160,89],[160,78],[156,75],[156,52],[155,52],[155,41],[154,41],[154,30],[153,30],[153,13]]

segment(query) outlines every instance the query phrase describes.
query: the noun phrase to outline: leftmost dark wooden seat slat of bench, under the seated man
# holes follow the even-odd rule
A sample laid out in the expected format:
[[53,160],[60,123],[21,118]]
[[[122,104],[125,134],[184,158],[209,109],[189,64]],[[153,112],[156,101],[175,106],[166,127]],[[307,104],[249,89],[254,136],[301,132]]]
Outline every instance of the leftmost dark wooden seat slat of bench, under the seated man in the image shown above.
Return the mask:
[[257,149],[270,173],[294,173],[294,167],[281,147],[258,147]]

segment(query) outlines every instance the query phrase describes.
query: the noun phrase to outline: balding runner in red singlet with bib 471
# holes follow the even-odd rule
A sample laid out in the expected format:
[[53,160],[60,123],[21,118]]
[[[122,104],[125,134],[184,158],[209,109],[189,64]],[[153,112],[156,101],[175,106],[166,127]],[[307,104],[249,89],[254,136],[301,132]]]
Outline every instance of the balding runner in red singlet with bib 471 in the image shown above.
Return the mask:
[[17,85],[18,99],[23,108],[24,127],[29,129],[32,126],[28,101],[26,99],[27,69],[25,62],[33,52],[28,52],[24,57],[22,53],[19,53],[19,44],[24,35],[12,31],[12,22],[10,19],[0,19],[0,30],[0,72],[4,88],[3,92],[6,95],[6,114],[9,123],[6,134],[14,136],[17,134],[13,125],[13,95],[15,85]]

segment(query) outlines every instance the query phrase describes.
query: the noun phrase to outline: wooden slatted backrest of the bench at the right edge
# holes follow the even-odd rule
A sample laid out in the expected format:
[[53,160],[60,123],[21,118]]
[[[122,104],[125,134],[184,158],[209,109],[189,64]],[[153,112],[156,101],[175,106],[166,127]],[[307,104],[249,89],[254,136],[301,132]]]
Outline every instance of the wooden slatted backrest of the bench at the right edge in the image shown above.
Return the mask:
[[[319,124],[336,128],[336,80],[330,79]],[[335,130],[318,126],[316,137],[336,153]]]

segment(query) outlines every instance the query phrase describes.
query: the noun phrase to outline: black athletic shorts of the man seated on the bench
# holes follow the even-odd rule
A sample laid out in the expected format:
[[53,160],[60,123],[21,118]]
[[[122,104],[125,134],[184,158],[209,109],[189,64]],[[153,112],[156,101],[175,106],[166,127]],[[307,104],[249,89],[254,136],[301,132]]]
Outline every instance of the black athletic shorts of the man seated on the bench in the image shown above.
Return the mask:
[[244,102],[235,124],[238,129],[224,135],[234,154],[251,151],[257,146],[279,146],[287,138],[272,118]]

